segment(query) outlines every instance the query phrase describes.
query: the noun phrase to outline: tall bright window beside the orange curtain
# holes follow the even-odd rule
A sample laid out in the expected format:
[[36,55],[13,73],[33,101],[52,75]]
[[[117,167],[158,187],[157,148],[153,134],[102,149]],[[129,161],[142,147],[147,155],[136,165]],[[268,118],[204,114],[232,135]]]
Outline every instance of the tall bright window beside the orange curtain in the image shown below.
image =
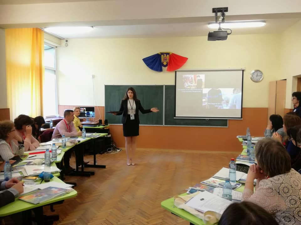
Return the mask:
[[44,44],[45,78],[43,88],[43,116],[57,115],[56,47]]

